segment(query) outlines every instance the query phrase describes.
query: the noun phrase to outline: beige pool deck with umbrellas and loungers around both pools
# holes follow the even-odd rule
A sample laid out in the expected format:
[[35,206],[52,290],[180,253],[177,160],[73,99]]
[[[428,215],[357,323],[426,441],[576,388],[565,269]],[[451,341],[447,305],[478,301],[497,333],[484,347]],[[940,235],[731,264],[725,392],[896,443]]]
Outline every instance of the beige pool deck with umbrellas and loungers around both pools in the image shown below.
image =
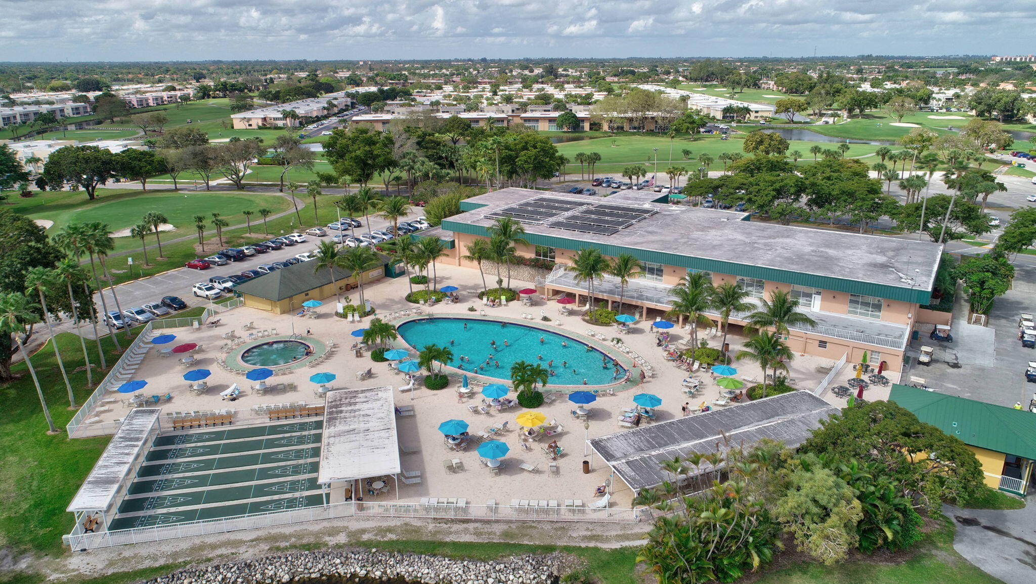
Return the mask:
[[[529,282],[512,281],[512,287],[515,289],[526,287],[529,284]],[[629,357],[615,351],[607,342],[586,337],[584,333],[587,329],[599,331],[609,339],[616,335],[606,327],[593,327],[584,323],[579,317],[582,314],[581,308],[573,307],[571,315],[563,316],[559,311],[562,306],[554,302],[544,302],[539,299],[536,300],[533,307],[522,306],[521,303],[510,303],[506,307],[498,308],[484,307],[476,296],[476,293],[482,288],[479,274],[473,270],[462,268],[439,266],[438,285],[458,286],[462,302],[454,305],[438,304],[430,310],[433,314],[462,318],[486,317],[543,328],[557,334],[570,336],[579,342],[593,344],[608,355],[614,356],[624,367],[632,366]],[[414,308],[414,305],[403,300],[407,291],[408,282],[406,278],[385,278],[366,286],[365,296],[372,301],[380,315],[388,315],[396,311]],[[352,295],[352,299],[356,299],[355,294]],[[274,315],[241,307],[221,314],[222,325],[215,328],[169,329],[164,332],[177,335],[177,339],[171,345],[181,342],[196,342],[203,345],[202,350],[196,353],[197,363],[191,367],[183,367],[179,365],[175,357],[159,357],[152,351],[145,357],[134,379],[146,380],[148,382],[148,386],[144,391],[140,392],[144,395],[160,393],[164,395],[167,392],[172,394],[173,397],[168,404],[161,404],[164,410],[164,419],[168,412],[234,409],[236,410],[234,425],[230,426],[233,428],[237,428],[241,424],[256,423],[258,421],[257,418],[252,417],[251,409],[255,406],[287,401],[322,404],[322,396],[316,392],[317,384],[309,382],[309,377],[313,373],[328,371],[337,374],[338,380],[330,384],[333,387],[363,388],[393,385],[398,388],[404,385],[402,376],[392,371],[387,363],[374,363],[370,360],[369,353],[364,352],[362,357],[356,357],[349,350],[352,342],[356,340],[349,336],[350,331],[366,327],[370,318],[365,318],[361,324],[347,323],[332,314],[332,310],[334,309],[333,303],[334,299],[327,299],[324,306],[316,309],[318,317],[312,319],[293,318],[289,315]],[[476,311],[468,311],[468,306],[473,306]],[[481,316],[481,310],[485,310],[486,316]],[[533,312],[539,318],[541,310],[544,310],[546,315],[551,318],[550,322],[545,323],[539,319],[528,321],[521,318],[523,312]],[[402,322],[403,318],[403,316],[400,316],[395,322]],[[316,367],[304,365],[290,370],[284,376],[277,376],[266,380],[268,385],[294,383],[297,387],[295,391],[261,396],[250,389],[250,386],[255,382],[249,382],[241,376],[228,372],[219,367],[214,362],[218,358],[223,359],[226,357],[225,354],[220,352],[220,346],[226,342],[221,335],[231,330],[235,331],[238,335],[248,334],[247,332],[242,332],[241,327],[249,323],[253,323],[257,329],[276,328],[279,335],[282,336],[295,332],[312,337],[322,343],[334,339],[336,351],[329,358]],[[292,327],[294,330],[292,330]],[[687,332],[680,329],[674,328],[669,332],[670,340],[673,342],[686,339],[687,337]],[[699,336],[702,335],[699,334]],[[720,342],[720,335],[718,333],[703,334],[702,338],[706,338],[713,346],[718,345]],[[573,410],[574,405],[564,397],[564,394],[568,393],[569,390],[575,388],[582,389],[583,386],[548,386],[547,388],[548,390],[557,391],[558,395],[552,402],[544,404],[538,411],[542,412],[547,420],[555,419],[565,427],[565,432],[555,437],[557,438],[558,445],[566,451],[565,455],[557,461],[560,471],[559,477],[549,476],[547,472],[550,461],[541,451],[541,446],[545,445],[547,441],[541,440],[540,442],[526,443],[520,440],[519,430],[515,427],[517,425],[515,416],[522,411],[521,408],[513,408],[502,412],[490,411],[489,414],[485,415],[472,414],[468,410],[468,406],[481,405],[482,397],[478,394],[474,394],[470,398],[459,397],[457,392],[454,391],[459,385],[456,383],[456,379],[451,381],[450,387],[441,391],[429,391],[420,384],[418,390],[413,392],[397,391],[396,404],[398,406],[410,405],[414,411],[414,415],[412,416],[397,418],[399,442],[403,446],[419,450],[414,453],[402,454],[402,467],[406,471],[421,471],[422,473],[421,483],[400,485],[400,500],[413,502],[419,501],[422,497],[464,497],[470,504],[485,504],[488,499],[495,499],[499,504],[510,504],[512,499],[534,498],[545,500],[581,499],[587,504],[593,502],[594,488],[609,478],[610,469],[603,466],[596,456],[592,457],[588,455],[585,440],[592,437],[621,432],[622,428],[616,422],[616,417],[624,409],[633,405],[633,394],[643,391],[659,395],[663,399],[663,404],[657,409],[658,421],[664,421],[679,417],[681,415],[682,404],[689,402],[693,407],[703,401],[711,402],[719,396],[720,391],[720,388],[710,380],[709,373],[706,372],[703,374],[698,373],[697,376],[698,379],[702,380],[702,390],[695,394],[694,397],[688,397],[684,394],[680,382],[687,377],[687,371],[678,369],[664,360],[662,350],[655,344],[655,335],[648,331],[648,327],[643,323],[634,323],[631,333],[623,335],[622,339],[625,344],[649,360],[654,366],[655,377],[640,384],[639,369],[633,369],[634,381],[618,384],[613,388],[614,395],[607,395],[607,392],[604,392],[597,401],[586,407],[589,411],[588,420],[585,422],[586,427],[584,427],[582,420],[573,419],[570,412]],[[733,352],[740,349],[743,341],[744,338],[741,337],[733,335],[728,337],[728,342]],[[401,340],[396,341],[396,344],[403,346]],[[827,359],[797,355],[795,360],[788,364],[792,370],[789,377],[797,379],[800,387],[812,388],[825,374],[819,371],[818,367],[824,365],[830,366],[831,364],[832,361]],[[742,369],[741,374],[755,378],[758,378],[760,374],[758,367],[754,364],[745,362],[735,363],[733,365]],[[212,371],[211,377],[207,380],[209,389],[201,395],[191,393],[189,391],[189,382],[183,381],[181,378],[186,370],[197,367],[204,367]],[[373,377],[368,380],[358,381],[356,379],[357,372],[367,370],[368,368],[372,369]],[[459,378],[460,373],[460,371],[456,371],[455,377]],[[474,376],[469,373],[469,379],[473,378]],[[486,381],[496,383],[499,380],[486,378]],[[241,388],[240,398],[233,402],[221,400],[219,393],[234,383],[239,384]],[[123,408],[122,400],[128,397],[125,394],[111,393],[108,396],[110,401],[105,404],[107,411],[97,412],[96,418],[100,421],[112,421],[123,417],[128,412],[128,409]],[[729,406],[729,408],[737,407]],[[482,465],[474,448],[468,448],[463,452],[455,452],[447,448],[443,444],[443,437],[437,427],[440,422],[452,418],[467,421],[470,424],[470,430],[478,430],[479,433],[492,423],[509,421],[509,429],[497,437],[511,447],[510,452],[503,458],[507,466],[500,471],[499,476],[493,477],[490,475],[489,470]],[[265,418],[263,418],[263,422],[265,422]],[[168,424],[164,425],[168,427]],[[201,434],[211,435],[225,428],[206,428]],[[176,434],[173,436],[190,436],[197,433],[198,430],[185,435]],[[242,442],[258,439],[260,438],[250,438]],[[165,440],[165,438],[161,440]],[[193,438],[180,440],[191,440],[192,448],[206,447],[204,446],[204,441],[195,444],[193,441],[196,439]],[[317,444],[317,446],[319,445]],[[243,461],[240,456],[259,456],[261,458],[262,454],[254,452],[237,453],[230,455],[226,462],[230,463],[233,457]],[[209,472],[232,470],[231,468],[223,468],[223,463],[213,461],[213,458],[219,457],[219,455],[199,455],[198,461],[204,461],[203,464],[209,465],[200,470]],[[460,458],[463,464],[463,471],[452,472],[444,469],[443,461],[452,461],[453,458]],[[592,462],[593,471],[589,474],[583,474],[582,472],[582,461],[584,460]],[[244,462],[251,463],[250,466],[262,466],[278,461],[252,462],[250,458]],[[519,465],[523,463],[537,466],[539,472],[529,473],[522,471]],[[161,476],[149,478],[156,479],[161,478]],[[218,484],[223,479],[227,479],[227,477],[217,476],[214,478],[215,483],[210,482],[208,489],[222,489]],[[258,484],[263,479],[257,475],[254,480],[259,481],[256,482]],[[141,485],[141,489],[146,489],[146,485]],[[629,508],[632,502],[632,492],[617,479],[615,484],[612,485],[612,490],[611,507]],[[252,497],[254,493],[250,492],[247,495],[248,497]],[[140,496],[144,496],[144,494],[142,493]],[[342,499],[343,493],[340,489],[332,491],[329,502],[340,502]],[[388,493],[368,500],[372,502],[396,501],[395,485],[390,485]]]

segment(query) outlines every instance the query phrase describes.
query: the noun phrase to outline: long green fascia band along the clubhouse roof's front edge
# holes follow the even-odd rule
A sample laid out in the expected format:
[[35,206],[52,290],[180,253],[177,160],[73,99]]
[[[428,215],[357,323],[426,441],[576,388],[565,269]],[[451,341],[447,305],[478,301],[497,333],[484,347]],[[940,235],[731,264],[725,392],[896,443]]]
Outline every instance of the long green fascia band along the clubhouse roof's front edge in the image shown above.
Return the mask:
[[[443,219],[442,229],[457,233],[467,233],[470,235],[482,235],[488,238],[489,233],[481,225],[470,225]],[[552,248],[580,250],[587,246],[595,246],[601,253],[612,257],[621,253],[629,253],[640,261],[652,263],[664,263],[677,266],[690,270],[702,270],[717,274],[730,274],[731,276],[742,276],[745,278],[758,278],[774,282],[785,282],[813,288],[822,288],[847,294],[858,294],[863,296],[873,296],[887,300],[900,300],[903,302],[916,302],[918,304],[928,304],[931,300],[931,293],[923,289],[912,289],[887,284],[877,284],[863,280],[850,280],[845,278],[835,278],[833,276],[818,276],[815,274],[803,274],[789,270],[779,270],[776,268],[764,268],[761,266],[751,266],[749,263],[736,263],[720,259],[707,259],[694,257],[681,253],[663,252],[655,250],[637,249],[626,246],[616,246],[596,242],[584,242],[570,238],[558,238],[555,235],[543,235],[540,233],[525,233],[522,235],[531,245],[547,246]]]

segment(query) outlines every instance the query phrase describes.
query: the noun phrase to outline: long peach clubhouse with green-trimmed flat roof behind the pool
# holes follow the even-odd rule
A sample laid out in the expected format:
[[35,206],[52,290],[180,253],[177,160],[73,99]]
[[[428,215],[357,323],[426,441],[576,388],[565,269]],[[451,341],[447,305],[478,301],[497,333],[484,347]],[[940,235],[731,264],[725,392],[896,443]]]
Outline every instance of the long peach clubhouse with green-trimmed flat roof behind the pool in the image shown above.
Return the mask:
[[[523,224],[528,242],[517,246],[518,255],[556,262],[537,282],[541,293],[577,303],[585,302],[587,285],[565,266],[579,250],[596,247],[609,258],[630,253],[641,271],[626,285],[624,303],[645,319],[670,309],[671,287],[689,272],[708,273],[714,285],[737,283],[754,304],[786,290],[816,323],[790,327],[792,351],[847,362],[866,357],[890,371],[900,370],[912,331],[939,315],[921,307],[930,302],[941,245],[753,222],[746,213],[665,201],[644,191],[604,199],[508,188],[461,201],[461,214],[422,235],[450,244],[440,261],[478,269],[463,259],[465,246],[487,239],[497,218],[511,216]],[[605,276],[595,281],[595,298],[616,304],[620,288],[617,279]],[[730,331],[741,332],[754,310],[731,314]],[[718,313],[707,315],[719,325]]]

